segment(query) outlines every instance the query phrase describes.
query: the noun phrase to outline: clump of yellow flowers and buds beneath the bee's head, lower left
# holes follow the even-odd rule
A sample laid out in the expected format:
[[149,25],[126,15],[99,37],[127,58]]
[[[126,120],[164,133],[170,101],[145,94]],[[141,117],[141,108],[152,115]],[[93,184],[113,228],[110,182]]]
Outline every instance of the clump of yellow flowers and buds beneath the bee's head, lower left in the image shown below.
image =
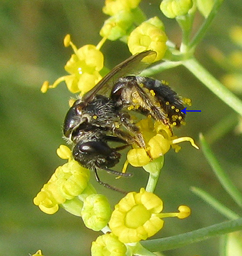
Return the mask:
[[61,206],[71,214],[81,216],[86,227],[100,231],[111,215],[107,198],[96,194],[89,183],[90,171],[72,159],[67,146],[60,145],[56,152],[62,159],[68,159],[68,163],[56,169],[35,197],[34,204],[47,214],[56,213]]

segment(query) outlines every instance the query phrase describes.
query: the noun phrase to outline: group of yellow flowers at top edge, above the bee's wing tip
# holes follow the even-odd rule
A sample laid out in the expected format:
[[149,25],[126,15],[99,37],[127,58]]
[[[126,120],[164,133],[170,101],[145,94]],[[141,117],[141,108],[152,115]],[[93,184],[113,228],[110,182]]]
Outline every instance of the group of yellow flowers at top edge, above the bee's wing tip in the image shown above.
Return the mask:
[[104,22],[100,35],[109,40],[121,39],[127,42],[133,55],[144,50],[154,50],[157,53],[154,61],[161,60],[167,49],[163,23],[158,17],[145,21],[139,3],[140,0],[107,0],[103,12],[111,17]]

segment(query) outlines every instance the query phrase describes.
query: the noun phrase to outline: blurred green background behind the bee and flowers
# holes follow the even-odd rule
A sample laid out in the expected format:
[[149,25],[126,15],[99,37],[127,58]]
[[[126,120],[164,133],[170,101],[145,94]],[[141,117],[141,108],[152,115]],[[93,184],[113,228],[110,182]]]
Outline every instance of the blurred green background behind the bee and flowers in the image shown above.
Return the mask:
[[[64,163],[55,151],[64,143],[62,122],[71,97],[64,84],[46,94],[40,92],[41,85],[45,80],[53,82],[66,74],[63,67],[72,54],[70,48],[63,46],[66,34],[71,34],[77,47],[100,41],[99,30],[107,18],[101,11],[103,2],[2,0],[0,3],[1,256],[29,255],[37,249],[42,249],[46,256],[90,255],[91,241],[101,234],[90,231],[79,217],[62,209],[54,215],[42,213],[32,199],[56,167]],[[160,14],[159,4],[160,1],[143,0],[140,6],[148,17],[160,15],[169,39],[179,45],[178,25]],[[241,50],[228,36],[233,25],[242,25],[241,13],[241,1],[225,1],[197,48],[198,60],[218,79],[228,70],[213,61],[210,49],[216,47],[226,56]],[[198,14],[194,29],[201,21]],[[109,68],[129,56],[127,46],[121,42],[106,42],[102,52]],[[202,111],[188,113],[187,125],[177,130],[176,135],[191,136],[199,144],[198,135],[204,133],[220,164],[242,190],[242,139],[235,130],[237,114],[183,67],[163,72],[155,78],[169,81],[176,92],[192,99],[190,109]],[[180,204],[187,204],[192,215],[185,220],[167,219],[165,227],[155,236],[157,238],[226,220],[192,194],[191,186],[205,189],[239,213],[236,204],[216,180],[201,150],[195,150],[189,143],[181,146],[179,153],[171,150],[165,156],[156,194],[164,201],[164,212],[173,212]],[[121,165],[116,168],[120,169]],[[134,173],[132,178],[115,180],[106,173],[100,176],[127,191],[145,186],[148,177],[145,171],[139,168],[129,171]],[[97,191],[107,195],[112,204],[122,197],[95,183],[93,175],[91,178]],[[219,255],[218,248],[219,238],[214,238],[164,254],[216,256]]]

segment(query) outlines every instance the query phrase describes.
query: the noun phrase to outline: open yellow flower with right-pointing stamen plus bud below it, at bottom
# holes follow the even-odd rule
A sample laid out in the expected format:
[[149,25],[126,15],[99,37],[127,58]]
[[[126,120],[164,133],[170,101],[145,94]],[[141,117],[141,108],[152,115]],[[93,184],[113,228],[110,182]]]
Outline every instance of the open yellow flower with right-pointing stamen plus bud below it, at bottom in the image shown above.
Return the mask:
[[109,221],[112,233],[101,235],[93,242],[91,255],[126,255],[127,244],[156,234],[163,227],[164,217],[184,219],[191,214],[187,206],[180,206],[177,213],[161,213],[162,210],[162,200],[144,188],[139,193],[128,193],[112,213]]

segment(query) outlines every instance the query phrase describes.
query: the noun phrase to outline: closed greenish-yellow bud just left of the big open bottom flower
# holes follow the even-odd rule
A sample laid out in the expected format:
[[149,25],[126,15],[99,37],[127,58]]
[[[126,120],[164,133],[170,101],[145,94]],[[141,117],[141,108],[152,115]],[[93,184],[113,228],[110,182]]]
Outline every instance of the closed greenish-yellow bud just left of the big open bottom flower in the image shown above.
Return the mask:
[[111,216],[107,197],[100,194],[89,195],[84,200],[81,216],[86,227],[100,231],[107,225]]

